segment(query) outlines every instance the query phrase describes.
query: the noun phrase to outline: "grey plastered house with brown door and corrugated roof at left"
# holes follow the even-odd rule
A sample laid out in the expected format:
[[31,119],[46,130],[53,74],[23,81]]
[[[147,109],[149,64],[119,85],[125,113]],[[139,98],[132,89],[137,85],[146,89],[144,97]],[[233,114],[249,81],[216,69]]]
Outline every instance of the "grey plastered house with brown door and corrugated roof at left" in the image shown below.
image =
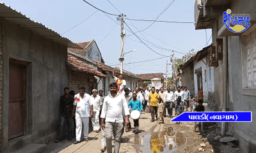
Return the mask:
[[81,48],[0,3],[0,152],[56,138],[68,47]]

